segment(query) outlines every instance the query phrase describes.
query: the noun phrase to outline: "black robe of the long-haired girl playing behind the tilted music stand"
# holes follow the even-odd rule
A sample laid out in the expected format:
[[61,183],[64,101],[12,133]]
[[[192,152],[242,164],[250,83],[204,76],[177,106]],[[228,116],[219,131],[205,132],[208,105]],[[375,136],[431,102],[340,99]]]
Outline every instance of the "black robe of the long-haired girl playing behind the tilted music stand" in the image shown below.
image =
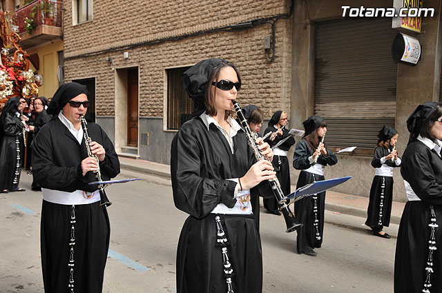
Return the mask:
[[[324,180],[324,176],[306,172],[314,163],[309,162],[309,156],[314,153],[313,150],[305,139],[301,139],[296,144],[295,154],[293,159],[293,166],[296,170],[302,170],[298,177],[298,183],[296,183],[296,189],[301,188],[314,181]],[[321,165],[334,165],[338,162],[338,158],[329,148],[327,148],[327,156],[320,154],[318,156],[318,164]],[[318,212],[314,213],[314,207],[318,208]],[[295,216],[304,225],[296,232],[296,245],[298,252],[303,252],[307,247],[313,249],[314,247],[320,247],[323,243],[323,230],[324,230],[324,211],[325,211],[325,192],[307,196],[294,204]],[[315,217],[318,220],[318,230],[314,226]],[[318,235],[317,235],[318,234]],[[317,238],[318,237],[318,238]]]

